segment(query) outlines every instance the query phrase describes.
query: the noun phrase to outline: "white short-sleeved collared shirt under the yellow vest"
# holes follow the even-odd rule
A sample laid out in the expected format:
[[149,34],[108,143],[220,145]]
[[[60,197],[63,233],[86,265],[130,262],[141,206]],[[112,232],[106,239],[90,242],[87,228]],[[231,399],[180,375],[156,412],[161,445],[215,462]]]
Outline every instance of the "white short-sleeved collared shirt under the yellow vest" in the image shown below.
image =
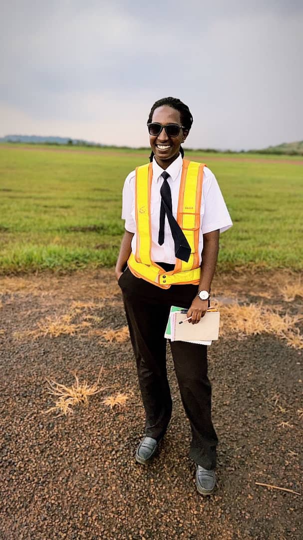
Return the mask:
[[[150,194],[150,225],[152,231],[152,260],[155,262],[167,262],[175,264],[175,244],[170,231],[167,216],[164,226],[164,244],[158,244],[161,194],[160,189],[163,183],[161,174],[164,169],[153,159],[153,179],[152,191]],[[177,207],[179,188],[182,173],[181,154],[173,161],[166,172],[171,190],[171,201],[173,203],[173,215],[177,218]],[[135,171],[128,174],[122,193],[122,219],[125,219],[125,228],[130,233],[135,233],[132,239],[132,252],[136,253],[136,221],[135,221]],[[199,234],[199,264],[201,264],[201,254],[203,249],[203,234],[211,231],[227,231],[232,226],[229,211],[226,208],[221,190],[218,186],[215,175],[208,167],[203,170],[202,199],[201,199],[201,228]]]

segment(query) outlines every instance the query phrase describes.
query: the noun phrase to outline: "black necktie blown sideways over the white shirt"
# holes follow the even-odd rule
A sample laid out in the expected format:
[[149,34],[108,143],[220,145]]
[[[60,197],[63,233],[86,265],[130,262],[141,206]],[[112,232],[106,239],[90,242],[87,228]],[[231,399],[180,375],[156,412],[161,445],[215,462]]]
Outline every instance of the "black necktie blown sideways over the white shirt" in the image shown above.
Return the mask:
[[164,242],[164,223],[165,223],[165,214],[169,222],[171,234],[175,242],[175,255],[177,259],[182,261],[188,261],[190,257],[190,245],[187,239],[184,236],[184,233],[181,230],[181,227],[177,224],[173,216],[173,205],[171,203],[171,191],[168,184],[169,174],[166,171],[163,171],[161,176],[163,177],[163,184],[161,186],[161,207],[160,207],[160,224],[159,224],[159,238],[158,242],[162,246]]

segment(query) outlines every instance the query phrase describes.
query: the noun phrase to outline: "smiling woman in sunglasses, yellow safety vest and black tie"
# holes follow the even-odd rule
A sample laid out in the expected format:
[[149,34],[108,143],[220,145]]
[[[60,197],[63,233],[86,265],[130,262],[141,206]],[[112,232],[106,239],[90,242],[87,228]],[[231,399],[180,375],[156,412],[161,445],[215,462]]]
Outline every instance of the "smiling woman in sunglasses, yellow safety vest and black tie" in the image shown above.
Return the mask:
[[[192,324],[209,305],[219,232],[231,227],[214,174],[183,160],[181,143],[192,116],[176,98],[163,98],[148,117],[150,164],[132,171],[123,187],[125,234],[115,268],[123,294],[130,339],[146,413],[145,436],[136,461],[148,463],[166,433],[172,402],[166,369],[166,329],[170,307],[186,308]],[[126,268],[126,269],[125,269]],[[211,421],[211,386],[206,345],[170,342],[188,416],[198,492],[215,488],[217,435]]]

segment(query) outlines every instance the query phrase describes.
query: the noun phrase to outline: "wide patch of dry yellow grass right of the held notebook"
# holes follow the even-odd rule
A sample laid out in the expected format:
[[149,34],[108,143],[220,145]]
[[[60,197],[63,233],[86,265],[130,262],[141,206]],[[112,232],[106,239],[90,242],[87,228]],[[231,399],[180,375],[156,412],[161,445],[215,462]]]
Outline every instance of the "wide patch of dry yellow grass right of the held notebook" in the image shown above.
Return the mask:
[[222,315],[221,334],[237,333],[240,336],[256,335],[263,332],[286,339],[287,344],[302,348],[303,336],[295,325],[303,315],[280,315],[262,303],[240,306],[239,304],[219,306]]

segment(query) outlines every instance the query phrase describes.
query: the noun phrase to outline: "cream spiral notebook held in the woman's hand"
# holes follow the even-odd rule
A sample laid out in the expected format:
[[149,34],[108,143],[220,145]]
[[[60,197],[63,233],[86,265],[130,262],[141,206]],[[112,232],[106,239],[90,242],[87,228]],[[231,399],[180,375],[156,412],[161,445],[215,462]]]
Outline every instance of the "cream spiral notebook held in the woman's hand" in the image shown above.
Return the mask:
[[172,306],[165,337],[171,341],[189,341],[201,345],[211,345],[212,340],[219,337],[220,313],[209,308],[204,317],[192,325],[186,320],[187,310]]

